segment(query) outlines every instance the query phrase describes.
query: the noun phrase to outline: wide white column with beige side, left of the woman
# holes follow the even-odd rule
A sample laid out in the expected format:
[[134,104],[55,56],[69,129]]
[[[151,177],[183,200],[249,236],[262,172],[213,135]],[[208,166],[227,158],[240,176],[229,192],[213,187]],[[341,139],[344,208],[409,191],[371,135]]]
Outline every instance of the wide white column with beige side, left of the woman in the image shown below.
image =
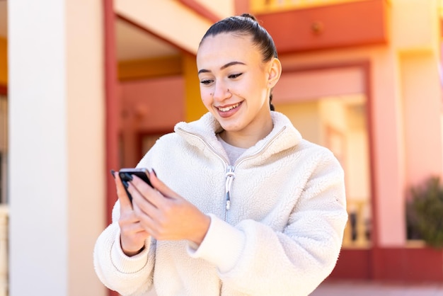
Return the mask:
[[8,1],[10,295],[106,295],[99,0]]

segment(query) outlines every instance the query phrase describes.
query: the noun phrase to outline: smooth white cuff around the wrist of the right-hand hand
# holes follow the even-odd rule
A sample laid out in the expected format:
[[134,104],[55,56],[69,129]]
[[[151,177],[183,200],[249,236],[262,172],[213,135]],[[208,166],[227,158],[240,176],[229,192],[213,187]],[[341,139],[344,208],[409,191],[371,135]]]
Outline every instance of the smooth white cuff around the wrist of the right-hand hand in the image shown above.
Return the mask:
[[188,244],[188,254],[192,258],[202,258],[213,263],[221,273],[230,271],[240,258],[246,237],[241,230],[209,214],[211,224],[202,244],[195,249]]

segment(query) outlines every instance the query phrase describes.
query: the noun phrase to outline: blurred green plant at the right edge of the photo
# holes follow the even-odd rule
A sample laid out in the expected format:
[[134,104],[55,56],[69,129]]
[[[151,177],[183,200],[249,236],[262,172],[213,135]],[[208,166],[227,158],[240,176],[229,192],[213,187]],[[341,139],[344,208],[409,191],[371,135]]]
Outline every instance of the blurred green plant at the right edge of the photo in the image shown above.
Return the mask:
[[443,247],[443,186],[439,177],[431,177],[422,186],[410,189],[406,214],[409,238]]

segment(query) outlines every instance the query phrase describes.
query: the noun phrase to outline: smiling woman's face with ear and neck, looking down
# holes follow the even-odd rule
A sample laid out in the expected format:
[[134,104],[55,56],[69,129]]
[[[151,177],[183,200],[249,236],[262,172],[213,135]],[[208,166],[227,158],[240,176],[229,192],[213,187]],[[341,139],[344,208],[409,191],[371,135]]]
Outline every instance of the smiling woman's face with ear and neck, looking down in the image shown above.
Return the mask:
[[265,128],[267,135],[272,129],[269,95],[280,77],[280,62],[262,59],[251,36],[220,33],[200,45],[202,101],[226,132],[248,135]]

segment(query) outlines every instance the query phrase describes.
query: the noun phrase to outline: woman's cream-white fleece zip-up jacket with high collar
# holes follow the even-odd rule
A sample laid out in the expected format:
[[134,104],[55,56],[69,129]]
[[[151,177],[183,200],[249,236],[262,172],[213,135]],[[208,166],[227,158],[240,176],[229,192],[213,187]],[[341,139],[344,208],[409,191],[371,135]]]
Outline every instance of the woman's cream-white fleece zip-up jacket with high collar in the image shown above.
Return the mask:
[[117,202],[94,249],[100,280],[125,296],[153,287],[159,296],[309,295],[340,252],[347,221],[343,170],[286,116],[272,112],[272,120],[272,132],[232,166],[210,113],[161,137],[138,166],[154,168],[209,215],[207,235],[197,249],[188,241],[148,239],[142,253],[127,257]]

